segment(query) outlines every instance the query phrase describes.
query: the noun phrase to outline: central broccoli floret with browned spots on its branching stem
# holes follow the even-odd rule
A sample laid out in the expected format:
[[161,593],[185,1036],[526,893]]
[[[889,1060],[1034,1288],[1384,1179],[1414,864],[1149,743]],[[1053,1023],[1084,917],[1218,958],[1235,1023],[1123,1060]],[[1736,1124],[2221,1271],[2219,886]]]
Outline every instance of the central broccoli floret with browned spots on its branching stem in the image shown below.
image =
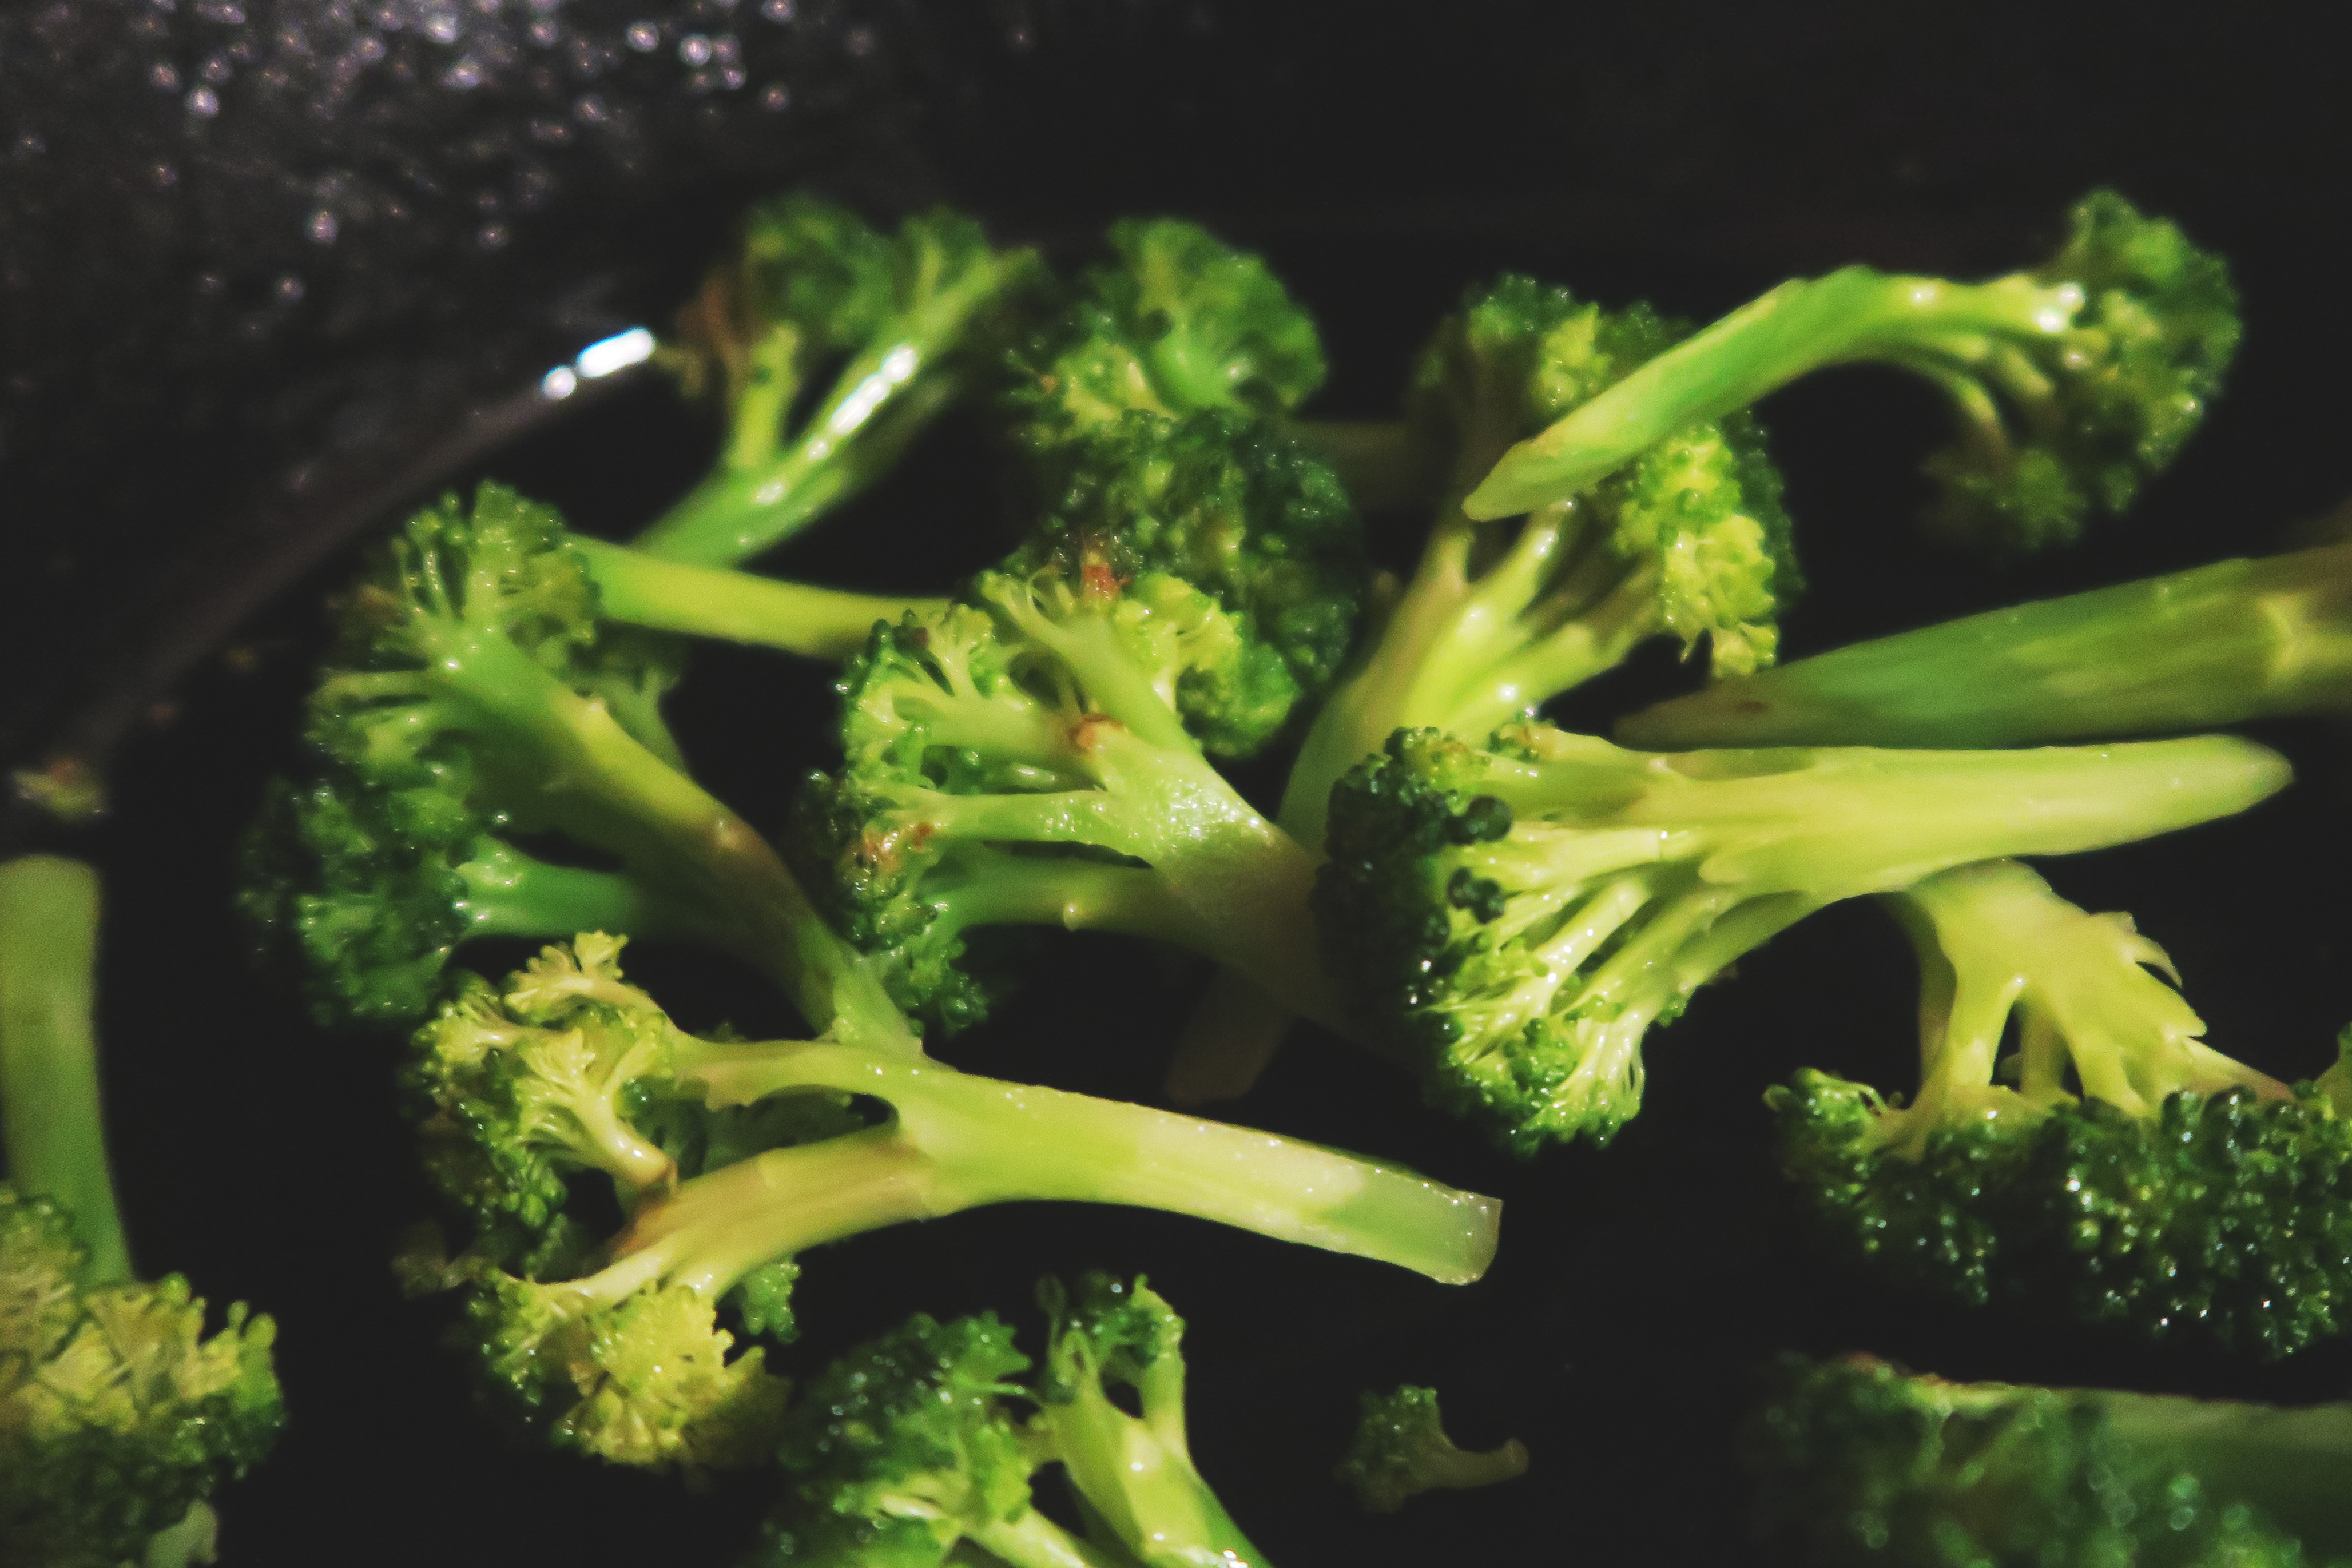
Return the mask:
[[1279,644],[1263,623],[1152,564],[1214,538],[1138,527],[1110,543],[1134,550],[1129,574],[1101,536],[1061,534],[1016,557],[1025,571],[985,574],[976,604],[880,628],[842,682],[849,762],[814,788],[793,851],[901,1006],[938,1025],[983,1011],[953,959],[990,922],[1169,940],[1341,1023],[1305,922],[1310,856],[1195,741],[1265,733],[1265,696],[1296,693],[1301,665],[1265,677]]

